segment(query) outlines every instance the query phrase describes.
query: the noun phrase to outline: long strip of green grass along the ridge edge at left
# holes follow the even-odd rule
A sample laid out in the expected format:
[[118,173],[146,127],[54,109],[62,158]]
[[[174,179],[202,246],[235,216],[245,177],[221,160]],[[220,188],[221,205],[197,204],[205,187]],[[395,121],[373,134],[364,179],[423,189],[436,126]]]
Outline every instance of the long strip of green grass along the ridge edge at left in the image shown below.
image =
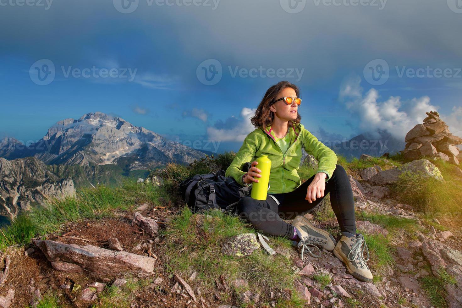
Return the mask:
[[78,189],[73,196],[49,199],[29,212],[23,212],[10,225],[1,229],[0,249],[12,245],[24,245],[34,236],[59,232],[62,225],[85,218],[101,218],[114,215],[115,211],[127,211],[139,202],[158,204],[168,199],[164,187],[151,183],[126,180],[121,187],[99,185]]

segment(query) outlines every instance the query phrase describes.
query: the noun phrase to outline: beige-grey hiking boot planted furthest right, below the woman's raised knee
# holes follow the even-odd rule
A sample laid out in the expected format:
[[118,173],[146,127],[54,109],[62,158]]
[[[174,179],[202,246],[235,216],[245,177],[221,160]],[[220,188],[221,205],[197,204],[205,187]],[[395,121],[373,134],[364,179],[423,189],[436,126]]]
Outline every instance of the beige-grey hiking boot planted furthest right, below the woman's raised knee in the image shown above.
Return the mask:
[[[366,259],[364,259],[364,251],[367,254]],[[354,236],[349,232],[342,232],[340,241],[335,245],[334,255],[345,264],[354,278],[372,282],[372,273],[366,264],[369,260],[369,249],[362,234]]]

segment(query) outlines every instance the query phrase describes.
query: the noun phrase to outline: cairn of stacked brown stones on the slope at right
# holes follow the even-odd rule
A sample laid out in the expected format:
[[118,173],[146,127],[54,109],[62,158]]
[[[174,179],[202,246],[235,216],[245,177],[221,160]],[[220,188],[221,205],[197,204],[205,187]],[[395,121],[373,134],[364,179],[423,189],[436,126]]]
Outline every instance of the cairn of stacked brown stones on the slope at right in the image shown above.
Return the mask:
[[439,157],[458,165],[461,157],[456,145],[461,145],[462,139],[450,133],[437,111],[426,112],[426,115],[424,124],[417,124],[406,134],[406,148],[400,152],[409,160],[421,156]]

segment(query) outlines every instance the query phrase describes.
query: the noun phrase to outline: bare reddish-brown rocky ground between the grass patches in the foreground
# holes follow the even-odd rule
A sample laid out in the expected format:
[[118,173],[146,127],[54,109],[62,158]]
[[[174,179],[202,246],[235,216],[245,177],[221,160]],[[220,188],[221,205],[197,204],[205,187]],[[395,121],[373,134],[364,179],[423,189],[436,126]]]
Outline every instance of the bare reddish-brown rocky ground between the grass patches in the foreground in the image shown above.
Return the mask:
[[[436,170],[425,166],[426,162],[414,163],[401,172],[421,168],[438,177]],[[420,221],[419,213],[394,199],[387,187],[397,170],[382,173],[377,167],[371,168],[360,176],[350,175],[357,210],[416,218],[423,228],[413,235],[401,232],[393,237],[394,262],[379,274],[373,271],[380,277],[374,283],[353,278],[327,251],[322,251],[321,258],[306,256],[302,261],[294,249],[276,249],[277,254],[291,260],[292,270],[298,274],[296,290],[310,307],[431,307],[421,278],[437,276],[444,269],[455,280],[444,285],[446,302],[451,308],[462,307],[462,230],[439,230],[437,218],[437,228]],[[231,286],[245,287],[248,282],[242,278],[229,281],[222,275],[215,289],[201,290],[195,286],[198,278],[194,269],[183,277],[167,275],[162,260],[165,238],[159,236],[159,230],[177,211],[176,205],[144,204],[114,217],[68,223],[59,234],[36,238],[28,247],[8,248],[1,257],[0,307],[36,306],[50,291],[64,307],[91,307],[108,287],[123,289],[137,281],[139,288],[133,287],[128,298],[130,307],[225,308],[237,302],[243,307],[275,307],[278,298],[288,296],[287,290],[275,290],[269,302],[262,302],[260,294],[247,290],[235,298],[224,294],[231,292]],[[311,214],[305,217],[319,227],[331,227]],[[386,236],[389,232],[369,221],[358,220],[357,224],[367,234]],[[338,234],[335,237],[339,239]],[[272,239],[267,242],[274,247]],[[231,250],[229,254],[262,249],[255,234],[233,237],[223,247],[224,253]]]

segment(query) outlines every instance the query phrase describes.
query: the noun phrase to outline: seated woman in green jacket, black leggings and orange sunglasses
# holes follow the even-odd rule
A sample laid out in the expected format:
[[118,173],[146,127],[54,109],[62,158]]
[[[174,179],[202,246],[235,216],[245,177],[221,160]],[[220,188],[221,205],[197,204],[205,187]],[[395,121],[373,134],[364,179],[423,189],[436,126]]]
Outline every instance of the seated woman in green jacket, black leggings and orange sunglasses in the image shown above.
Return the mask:
[[[239,214],[246,217],[255,229],[291,239],[301,251],[302,260],[305,249],[313,256],[313,247],[334,251],[355,278],[371,282],[372,274],[366,264],[369,252],[364,237],[356,234],[353,192],[345,169],[336,164],[334,151],[300,123],[300,103],[298,87],[281,81],[267,90],[255,116],[250,119],[256,129],[244,139],[225,175],[232,176],[243,186],[258,182],[261,170],[254,160],[261,154],[271,160],[271,172],[267,199],[241,198]],[[297,173],[302,148],[319,161],[316,174],[303,184]],[[246,162],[252,162],[247,172],[242,171]],[[338,243],[327,231],[314,227],[302,216],[319,204],[327,193],[330,193],[332,209],[342,231]],[[292,224],[280,216],[293,219]],[[368,255],[366,260],[364,250]]]

